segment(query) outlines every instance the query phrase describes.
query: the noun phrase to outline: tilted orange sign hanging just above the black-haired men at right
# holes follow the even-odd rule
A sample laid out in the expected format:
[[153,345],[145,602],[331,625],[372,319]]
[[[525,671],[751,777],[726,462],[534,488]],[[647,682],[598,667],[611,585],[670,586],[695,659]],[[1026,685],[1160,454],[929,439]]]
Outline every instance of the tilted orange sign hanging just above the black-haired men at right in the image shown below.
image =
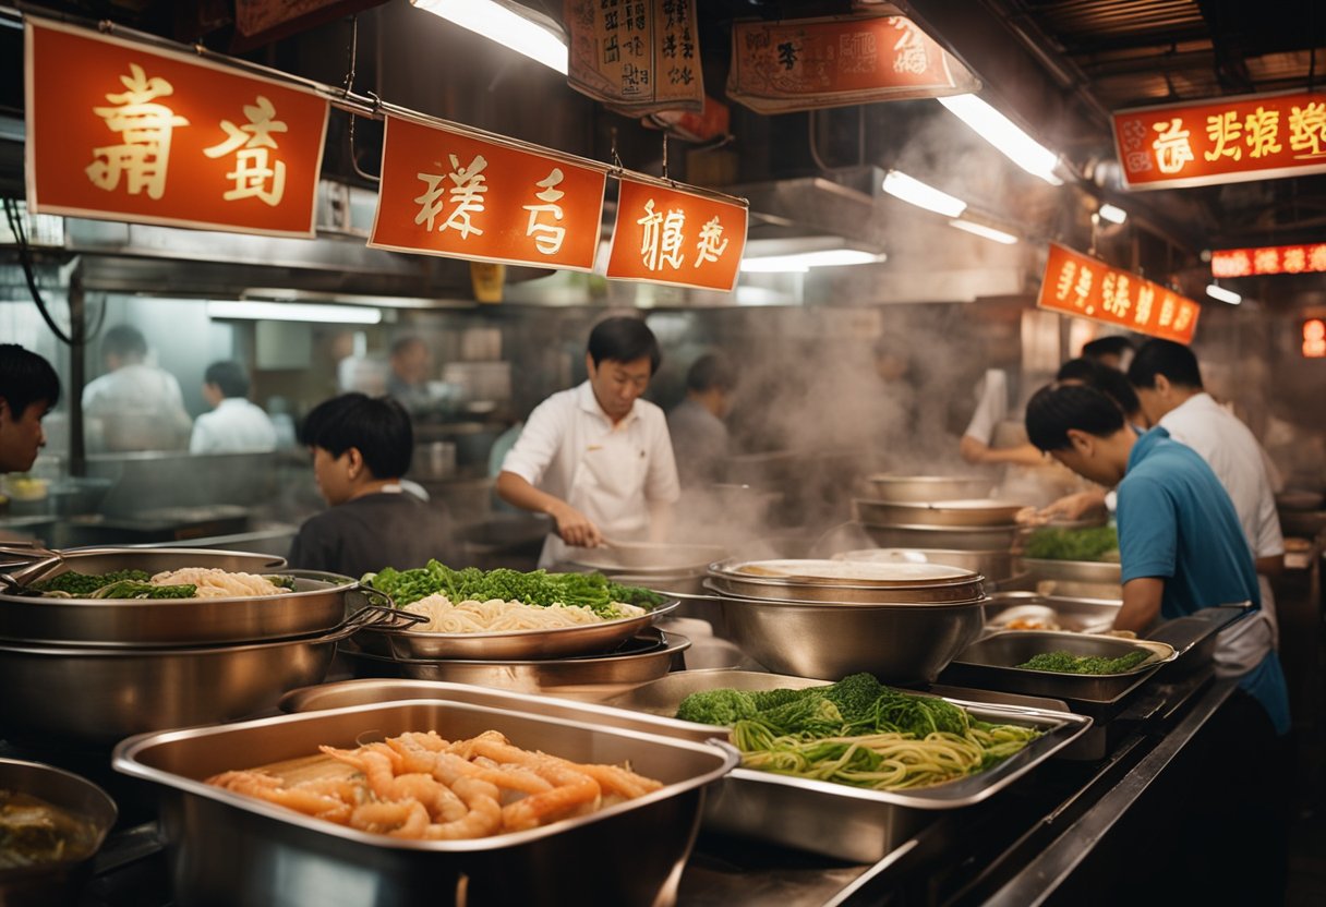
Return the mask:
[[1201,306],[1171,289],[1050,243],[1036,305],[1191,343]]

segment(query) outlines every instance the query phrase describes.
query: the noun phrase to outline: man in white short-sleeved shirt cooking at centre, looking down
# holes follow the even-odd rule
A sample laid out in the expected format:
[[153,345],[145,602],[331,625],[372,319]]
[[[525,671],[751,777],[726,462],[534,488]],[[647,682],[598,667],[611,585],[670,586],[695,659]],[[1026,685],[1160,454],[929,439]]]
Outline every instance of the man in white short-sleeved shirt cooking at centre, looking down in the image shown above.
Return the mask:
[[548,537],[540,566],[566,560],[569,545],[666,536],[680,496],[676,461],[663,410],[640,399],[660,359],[642,320],[601,321],[585,353],[589,379],[529,415],[497,495],[553,518],[558,537]]

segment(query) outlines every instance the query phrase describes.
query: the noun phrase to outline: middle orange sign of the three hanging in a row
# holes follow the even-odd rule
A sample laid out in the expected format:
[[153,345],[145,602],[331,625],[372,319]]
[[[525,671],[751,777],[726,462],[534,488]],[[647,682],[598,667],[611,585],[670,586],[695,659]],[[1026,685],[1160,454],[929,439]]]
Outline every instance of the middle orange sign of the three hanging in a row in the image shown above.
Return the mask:
[[590,271],[603,170],[387,117],[369,245]]

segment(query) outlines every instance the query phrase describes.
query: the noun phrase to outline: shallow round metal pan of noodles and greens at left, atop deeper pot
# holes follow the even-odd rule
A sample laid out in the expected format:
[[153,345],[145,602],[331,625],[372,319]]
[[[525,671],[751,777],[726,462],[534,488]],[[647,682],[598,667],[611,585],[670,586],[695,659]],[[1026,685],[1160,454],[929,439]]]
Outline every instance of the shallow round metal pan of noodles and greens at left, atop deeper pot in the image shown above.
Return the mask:
[[[359,583],[316,570],[281,569],[285,558],[190,548],[98,548],[61,552],[61,560],[20,578],[50,578],[69,570],[147,573],[216,568],[243,573],[281,573],[296,578],[296,591],[243,598],[36,598],[0,593],[0,640],[42,646],[203,646],[259,642],[322,633],[358,603]],[[351,595],[351,593],[355,593]],[[374,594],[375,595],[375,594]]]

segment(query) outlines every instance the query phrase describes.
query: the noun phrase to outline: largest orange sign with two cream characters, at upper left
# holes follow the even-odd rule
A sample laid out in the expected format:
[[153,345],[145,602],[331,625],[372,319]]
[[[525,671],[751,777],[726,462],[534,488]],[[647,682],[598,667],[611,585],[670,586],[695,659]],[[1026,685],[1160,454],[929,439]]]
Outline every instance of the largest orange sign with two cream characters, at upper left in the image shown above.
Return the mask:
[[29,210],[314,235],[325,99],[32,17],[25,41]]

